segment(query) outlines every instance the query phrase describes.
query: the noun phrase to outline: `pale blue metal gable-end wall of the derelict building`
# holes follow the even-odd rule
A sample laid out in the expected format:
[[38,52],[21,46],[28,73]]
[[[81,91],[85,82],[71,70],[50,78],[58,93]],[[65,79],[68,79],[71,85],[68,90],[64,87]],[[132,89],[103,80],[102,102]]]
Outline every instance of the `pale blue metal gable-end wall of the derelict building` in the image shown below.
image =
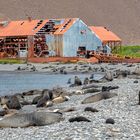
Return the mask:
[[63,56],[77,56],[79,46],[85,46],[86,50],[96,50],[97,46],[102,46],[102,42],[82,20],[77,19],[63,36]]

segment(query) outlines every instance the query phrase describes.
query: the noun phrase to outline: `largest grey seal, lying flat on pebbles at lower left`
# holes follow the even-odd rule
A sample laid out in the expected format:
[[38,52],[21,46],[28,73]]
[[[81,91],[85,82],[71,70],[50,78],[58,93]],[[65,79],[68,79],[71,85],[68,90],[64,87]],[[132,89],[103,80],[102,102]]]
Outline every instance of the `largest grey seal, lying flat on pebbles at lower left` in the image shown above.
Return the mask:
[[61,113],[54,112],[32,112],[17,113],[12,116],[4,117],[0,120],[0,127],[28,127],[43,126],[63,120]]

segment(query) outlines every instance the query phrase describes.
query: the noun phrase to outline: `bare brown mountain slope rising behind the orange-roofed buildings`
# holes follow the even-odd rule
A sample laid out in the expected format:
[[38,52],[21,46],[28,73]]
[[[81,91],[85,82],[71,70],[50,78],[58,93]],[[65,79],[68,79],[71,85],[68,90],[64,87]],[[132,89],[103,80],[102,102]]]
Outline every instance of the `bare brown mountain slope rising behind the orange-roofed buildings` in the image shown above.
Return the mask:
[[79,17],[105,26],[124,45],[140,45],[140,0],[0,0],[1,19]]

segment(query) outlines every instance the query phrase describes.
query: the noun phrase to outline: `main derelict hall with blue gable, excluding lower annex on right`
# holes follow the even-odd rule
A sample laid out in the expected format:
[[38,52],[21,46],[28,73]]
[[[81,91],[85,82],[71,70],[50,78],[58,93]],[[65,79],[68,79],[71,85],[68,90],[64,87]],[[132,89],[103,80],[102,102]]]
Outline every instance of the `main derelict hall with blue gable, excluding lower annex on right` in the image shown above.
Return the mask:
[[76,57],[101,44],[79,18],[0,22],[0,52],[6,57]]

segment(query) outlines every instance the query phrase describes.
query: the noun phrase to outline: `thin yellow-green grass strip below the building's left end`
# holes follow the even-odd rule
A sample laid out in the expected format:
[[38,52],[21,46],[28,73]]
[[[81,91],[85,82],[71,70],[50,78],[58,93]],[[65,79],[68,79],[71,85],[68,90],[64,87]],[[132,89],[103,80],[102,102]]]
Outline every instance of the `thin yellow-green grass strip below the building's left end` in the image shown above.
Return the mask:
[[0,59],[0,64],[24,64],[24,60],[19,60],[19,59],[8,59],[8,58],[3,58]]

